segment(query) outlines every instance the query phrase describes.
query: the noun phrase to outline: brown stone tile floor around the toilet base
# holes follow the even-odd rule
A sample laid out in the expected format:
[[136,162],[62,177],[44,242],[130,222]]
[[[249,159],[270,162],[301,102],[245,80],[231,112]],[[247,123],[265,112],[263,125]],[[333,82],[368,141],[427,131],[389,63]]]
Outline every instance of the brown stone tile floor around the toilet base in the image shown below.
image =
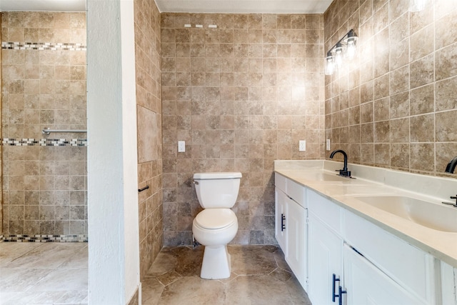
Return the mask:
[[229,246],[231,277],[199,277],[204,247],[165,247],[142,281],[142,304],[311,304],[277,246]]

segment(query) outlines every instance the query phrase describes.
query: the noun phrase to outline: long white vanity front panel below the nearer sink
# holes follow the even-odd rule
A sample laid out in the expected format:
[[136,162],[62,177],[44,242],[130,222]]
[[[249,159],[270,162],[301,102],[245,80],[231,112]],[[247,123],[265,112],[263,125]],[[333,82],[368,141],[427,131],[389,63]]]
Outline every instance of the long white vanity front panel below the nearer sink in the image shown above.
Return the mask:
[[366,219],[344,211],[345,240],[394,281],[434,304],[433,257]]

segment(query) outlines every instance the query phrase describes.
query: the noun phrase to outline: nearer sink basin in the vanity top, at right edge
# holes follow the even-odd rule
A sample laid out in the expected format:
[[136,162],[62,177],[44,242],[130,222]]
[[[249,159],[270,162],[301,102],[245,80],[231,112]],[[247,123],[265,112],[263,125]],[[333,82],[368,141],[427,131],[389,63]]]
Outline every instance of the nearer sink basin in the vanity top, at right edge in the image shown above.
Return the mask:
[[438,231],[457,233],[457,208],[407,196],[357,196],[356,199]]

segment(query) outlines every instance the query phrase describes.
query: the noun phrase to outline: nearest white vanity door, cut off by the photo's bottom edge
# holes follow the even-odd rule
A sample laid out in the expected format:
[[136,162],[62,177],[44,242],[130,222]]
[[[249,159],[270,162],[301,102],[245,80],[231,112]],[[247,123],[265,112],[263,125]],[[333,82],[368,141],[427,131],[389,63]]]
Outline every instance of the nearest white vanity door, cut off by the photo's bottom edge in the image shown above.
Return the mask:
[[[418,305],[426,304],[386,276],[365,257],[344,245],[343,304]],[[347,302],[344,303],[344,299]]]

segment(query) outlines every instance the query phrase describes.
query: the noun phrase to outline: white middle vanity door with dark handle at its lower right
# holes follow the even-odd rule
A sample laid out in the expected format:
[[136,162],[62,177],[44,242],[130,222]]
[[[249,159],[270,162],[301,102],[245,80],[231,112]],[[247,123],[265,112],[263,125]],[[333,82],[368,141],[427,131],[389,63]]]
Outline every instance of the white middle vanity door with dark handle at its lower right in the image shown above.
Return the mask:
[[[316,216],[309,213],[308,221],[308,296],[313,304],[332,304],[333,274],[341,279],[342,244],[339,236],[333,233]],[[336,284],[338,289],[338,284]],[[338,299],[336,299],[338,301]]]

